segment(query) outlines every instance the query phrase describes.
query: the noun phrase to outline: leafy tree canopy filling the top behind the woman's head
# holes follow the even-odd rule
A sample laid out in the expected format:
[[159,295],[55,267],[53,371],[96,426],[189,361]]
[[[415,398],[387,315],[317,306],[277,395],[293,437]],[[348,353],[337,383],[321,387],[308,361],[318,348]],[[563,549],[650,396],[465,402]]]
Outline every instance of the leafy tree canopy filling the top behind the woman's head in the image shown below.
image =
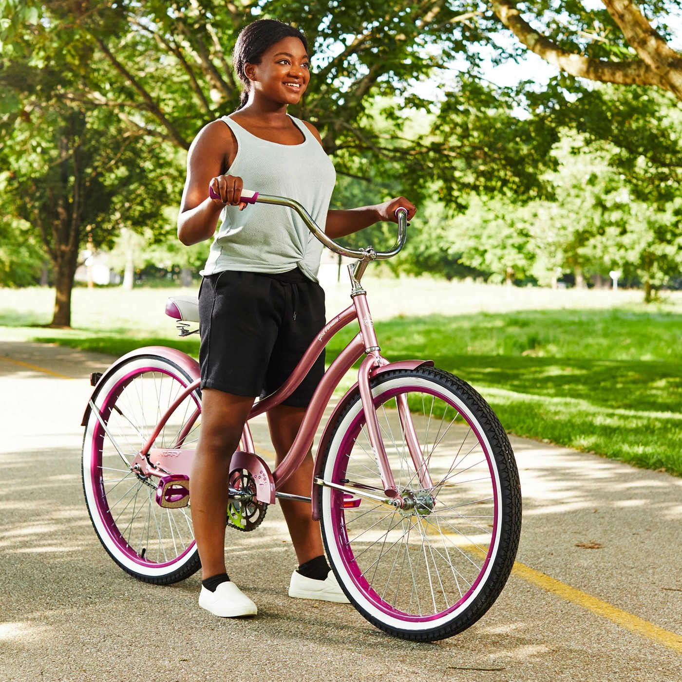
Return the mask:
[[[237,105],[238,31],[266,16],[304,29],[312,46],[311,85],[292,113],[317,125],[339,176],[379,194],[409,193],[450,213],[472,197],[550,201],[552,150],[571,132],[605,154],[634,200],[660,213],[677,197],[682,10],[673,0],[0,0],[10,213],[39,231],[53,215],[66,220],[40,231],[55,267],[63,246],[73,254],[83,235],[115,231],[104,216],[141,228],[177,203],[184,151]],[[487,80],[491,63],[526,50],[556,76]],[[427,80],[430,90],[418,87]],[[29,216],[16,206],[31,188]],[[74,216],[91,226],[77,237],[66,229]]]

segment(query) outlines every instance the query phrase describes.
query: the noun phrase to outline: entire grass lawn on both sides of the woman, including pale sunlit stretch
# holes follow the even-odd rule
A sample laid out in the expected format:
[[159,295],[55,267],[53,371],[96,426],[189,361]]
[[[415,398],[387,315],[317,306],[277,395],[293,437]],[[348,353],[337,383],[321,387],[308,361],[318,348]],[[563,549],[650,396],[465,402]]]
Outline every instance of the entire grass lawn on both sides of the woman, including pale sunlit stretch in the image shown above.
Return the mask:
[[[416,300],[419,286],[418,280],[406,286]],[[431,301],[432,280],[424,286]],[[442,286],[454,292],[454,314],[384,320],[375,316],[382,350],[389,359],[433,359],[436,366],[476,387],[514,434],[682,475],[682,306],[678,299],[647,308],[632,296],[616,300],[603,292],[586,292],[580,299],[574,292],[571,299],[560,299],[566,294],[552,298],[532,290],[515,291],[517,300],[510,302],[501,287],[496,293],[492,287]],[[394,302],[384,306],[378,301],[376,309],[399,313],[395,300],[401,300],[400,288],[395,282],[388,288]],[[499,312],[463,314],[475,308],[472,291],[486,301],[481,308]],[[0,291],[4,338],[55,342],[112,355],[152,344],[172,345],[190,355],[199,350],[197,336],[177,338],[172,322],[164,320],[162,301],[169,292],[140,291],[135,299],[113,290],[101,291],[96,298],[89,293],[88,300],[98,300],[98,305],[81,306],[79,316],[74,314],[79,329],[73,330],[26,326],[44,321],[44,312],[31,308],[38,299],[27,301],[18,312],[16,301],[8,305],[10,299],[3,293],[7,290]],[[530,304],[545,309],[524,310],[528,297],[532,297]],[[462,299],[466,306],[457,308]],[[134,300],[135,305],[122,305],[124,300]],[[436,300],[431,308],[419,309],[447,309],[442,297]],[[574,308],[560,308],[561,301]],[[614,307],[614,301],[619,305]],[[337,308],[329,305],[328,311]],[[328,360],[355,331],[332,340]]]

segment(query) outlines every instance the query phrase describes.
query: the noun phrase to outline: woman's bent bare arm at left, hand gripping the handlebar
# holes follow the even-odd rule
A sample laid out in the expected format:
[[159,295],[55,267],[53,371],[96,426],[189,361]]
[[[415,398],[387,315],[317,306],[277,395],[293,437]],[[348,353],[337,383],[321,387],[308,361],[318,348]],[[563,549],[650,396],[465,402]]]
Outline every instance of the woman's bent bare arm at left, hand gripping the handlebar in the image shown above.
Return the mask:
[[[236,143],[223,121],[205,125],[195,137],[187,154],[187,179],[177,216],[177,238],[190,246],[209,239],[216,231],[225,203],[237,205],[242,179],[222,175],[226,161],[236,155]],[[208,196],[212,186],[222,201]],[[240,203],[240,209],[246,204]]]

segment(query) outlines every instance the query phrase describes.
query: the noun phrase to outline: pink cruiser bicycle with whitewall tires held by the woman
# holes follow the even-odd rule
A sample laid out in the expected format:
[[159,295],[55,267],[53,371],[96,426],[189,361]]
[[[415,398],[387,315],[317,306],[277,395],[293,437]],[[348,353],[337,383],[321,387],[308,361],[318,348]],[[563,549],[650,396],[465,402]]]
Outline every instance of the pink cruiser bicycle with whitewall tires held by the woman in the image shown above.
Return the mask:
[[[322,232],[295,201],[244,192],[242,201],[289,207],[348,267],[352,304],[332,317],[261,415],[292,394],[332,336],[360,331],[319,383],[298,436],[274,471],[254,453],[244,426],[231,456],[227,525],[253,531],[276,499],[311,503],[328,559],[355,608],[408,640],[438,640],[470,627],[502,591],[521,529],[521,492],[509,439],[470,385],[432,361],[389,362],[380,354],[360,280],[370,261],[395,256],[406,240],[398,209],[393,250],[350,250]],[[169,299],[180,335],[193,333],[197,299]],[[339,400],[317,443],[311,496],[279,492],[313,443],[343,375],[363,358],[358,381]],[[128,574],[171,584],[195,573],[188,475],[201,425],[199,364],[175,349],[141,348],[103,374],[83,426],[83,490],[95,531]]]

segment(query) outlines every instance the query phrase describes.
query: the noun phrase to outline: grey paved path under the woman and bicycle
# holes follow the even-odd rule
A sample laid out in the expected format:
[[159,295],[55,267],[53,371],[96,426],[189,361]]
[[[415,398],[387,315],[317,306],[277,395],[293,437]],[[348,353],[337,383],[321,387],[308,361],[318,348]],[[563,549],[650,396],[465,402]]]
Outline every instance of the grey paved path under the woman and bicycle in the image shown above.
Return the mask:
[[87,375],[108,361],[0,342],[0,681],[682,679],[682,480],[523,439],[517,566],[450,640],[404,642],[350,606],[289,599],[279,507],[228,535],[257,618],[200,610],[198,576],[133,580],[100,546],[81,490]]

